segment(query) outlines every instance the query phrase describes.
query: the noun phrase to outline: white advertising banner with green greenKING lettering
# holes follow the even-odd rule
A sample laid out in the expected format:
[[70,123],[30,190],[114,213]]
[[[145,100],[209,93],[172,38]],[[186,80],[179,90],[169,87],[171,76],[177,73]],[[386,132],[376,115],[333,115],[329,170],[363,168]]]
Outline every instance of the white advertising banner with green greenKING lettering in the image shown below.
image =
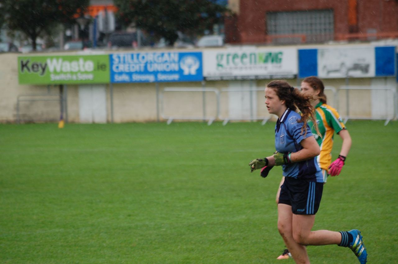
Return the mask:
[[203,52],[203,76],[220,79],[291,79],[297,75],[296,48],[227,48]]

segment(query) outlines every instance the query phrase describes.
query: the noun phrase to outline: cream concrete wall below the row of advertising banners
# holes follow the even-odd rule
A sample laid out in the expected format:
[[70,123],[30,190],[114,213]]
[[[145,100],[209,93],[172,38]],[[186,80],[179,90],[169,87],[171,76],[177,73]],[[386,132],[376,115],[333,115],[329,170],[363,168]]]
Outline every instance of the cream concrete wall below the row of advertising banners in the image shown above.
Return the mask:
[[[64,53],[65,54],[65,53]],[[70,54],[70,53],[69,53]],[[54,99],[53,101],[20,102],[20,118],[23,122],[57,121],[60,115],[59,87],[18,84],[18,53],[0,54],[0,122],[14,123],[17,121],[17,98],[21,95],[46,94],[46,96],[27,96],[30,99]],[[40,55],[40,54],[37,54]],[[49,55],[49,54],[43,54]],[[58,54],[57,54],[58,55]],[[207,81],[205,83],[130,83],[104,84],[106,91],[106,122],[146,122],[165,121],[167,118],[212,118],[232,117],[247,119],[267,118],[269,114],[264,105],[262,89],[271,80],[252,81]],[[287,80],[292,86],[300,87],[300,80]],[[337,98],[331,91],[326,91],[328,103],[337,108],[341,116],[357,116],[359,118],[383,118],[385,113],[394,114],[394,98],[392,94],[378,91],[339,91],[345,85],[370,87],[382,85],[396,88],[395,77],[363,78],[363,79],[324,79],[326,86],[337,89]],[[214,88],[219,94],[219,109],[217,96],[214,92],[164,92],[166,87],[178,88]],[[256,89],[260,91],[222,92],[222,89]],[[69,122],[79,123],[79,85],[64,87],[67,98],[67,118]],[[49,96],[53,94],[53,96]],[[347,103],[346,98],[349,98]],[[375,97],[376,96],[376,97]],[[20,97],[22,98],[22,97]],[[113,101],[111,100],[113,98]],[[203,101],[205,98],[205,101]],[[375,99],[376,98],[376,99]],[[113,102],[113,111],[112,111]],[[252,102],[252,109],[250,109]],[[347,105],[349,108],[347,109]],[[205,110],[203,110],[205,106]],[[166,119],[164,119],[164,118]]]

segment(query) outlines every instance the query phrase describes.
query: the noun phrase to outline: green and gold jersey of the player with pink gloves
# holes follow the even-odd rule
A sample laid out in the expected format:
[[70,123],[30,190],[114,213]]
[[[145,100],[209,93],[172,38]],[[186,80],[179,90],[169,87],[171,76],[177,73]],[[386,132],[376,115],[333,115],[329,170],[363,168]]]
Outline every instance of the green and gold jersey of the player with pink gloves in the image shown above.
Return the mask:
[[321,169],[328,170],[332,163],[332,147],[334,132],[339,133],[341,129],[345,129],[345,125],[341,120],[336,109],[320,102],[315,106],[316,123],[322,137],[318,136],[312,121],[308,121],[311,131],[318,142],[321,152],[317,157],[317,162]]

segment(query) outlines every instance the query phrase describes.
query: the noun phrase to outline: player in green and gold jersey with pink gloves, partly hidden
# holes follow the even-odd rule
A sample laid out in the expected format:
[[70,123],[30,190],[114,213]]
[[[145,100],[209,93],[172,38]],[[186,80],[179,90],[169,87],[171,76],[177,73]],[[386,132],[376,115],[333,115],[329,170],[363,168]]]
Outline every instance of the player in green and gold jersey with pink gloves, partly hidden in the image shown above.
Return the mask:
[[[343,121],[339,117],[339,113],[334,108],[326,104],[324,89],[325,87],[322,81],[314,76],[307,77],[301,82],[302,94],[311,96],[312,99],[310,101],[312,106],[315,108],[316,122],[321,136],[316,134],[311,122],[308,122],[308,124],[312,127],[312,133],[320,146],[320,154],[317,157],[317,162],[318,166],[322,169],[324,183],[326,183],[328,174],[331,176],[340,174],[341,168],[343,167],[347,154],[351,148],[351,137],[345,128]],[[341,137],[343,143],[341,145],[338,158],[332,163],[333,136],[335,132]],[[276,196],[277,203],[279,201],[279,194],[281,192],[281,186],[284,179],[285,177],[282,177],[281,183],[279,184]],[[277,259],[287,259],[289,256],[289,251],[285,249]]]

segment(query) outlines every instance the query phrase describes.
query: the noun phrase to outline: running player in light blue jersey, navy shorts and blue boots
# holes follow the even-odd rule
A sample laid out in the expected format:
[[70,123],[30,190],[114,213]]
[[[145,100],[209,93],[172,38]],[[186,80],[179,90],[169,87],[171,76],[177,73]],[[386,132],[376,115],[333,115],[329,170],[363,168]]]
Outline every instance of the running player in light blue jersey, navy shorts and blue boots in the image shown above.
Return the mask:
[[[282,166],[285,181],[278,203],[278,230],[296,263],[310,263],[306,245],[339,245],[349,247],[361,264],[367,252],[361,232],[311,231],[318,211],[324,180],[316,162],[320,148],[308,121],[318,131],[310,96],[301,94],[285,81],[271,81],[265,88],[265,105],[270,114],[278,116],[275,125],[276,152],[266,158],[252,160],[251,171],[261,169],[263,177],[269,168]],[[300,110],[301,115],[296,111]],[[267,170],[268,168],[268,170]]]

